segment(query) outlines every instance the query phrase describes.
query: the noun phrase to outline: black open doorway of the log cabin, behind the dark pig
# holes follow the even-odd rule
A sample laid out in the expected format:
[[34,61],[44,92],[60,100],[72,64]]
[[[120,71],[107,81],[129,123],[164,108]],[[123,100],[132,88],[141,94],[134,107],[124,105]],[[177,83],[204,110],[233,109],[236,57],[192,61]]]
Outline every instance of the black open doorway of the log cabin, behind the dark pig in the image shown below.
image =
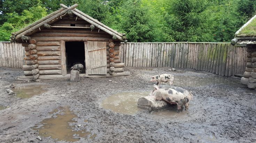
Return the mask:
[[67,73],[70,73],[71,66],[75,64],[83,64],[85,73],[85,53],[84,42],[65,42],[66,59],[67,59]]

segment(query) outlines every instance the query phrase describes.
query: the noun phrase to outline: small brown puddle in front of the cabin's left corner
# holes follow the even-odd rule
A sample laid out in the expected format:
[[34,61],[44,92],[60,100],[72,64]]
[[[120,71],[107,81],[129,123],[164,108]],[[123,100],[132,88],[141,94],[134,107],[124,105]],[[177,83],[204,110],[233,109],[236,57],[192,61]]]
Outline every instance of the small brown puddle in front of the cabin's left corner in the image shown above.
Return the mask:
[[42,90],[42,88],[47,87],[46,84],[29,84],[26,86],[21,87],[15,87],[12,89],[14,92],[16,92],[16,96],[18,98],[31,98],[34,95],[39,95],[47,90]]

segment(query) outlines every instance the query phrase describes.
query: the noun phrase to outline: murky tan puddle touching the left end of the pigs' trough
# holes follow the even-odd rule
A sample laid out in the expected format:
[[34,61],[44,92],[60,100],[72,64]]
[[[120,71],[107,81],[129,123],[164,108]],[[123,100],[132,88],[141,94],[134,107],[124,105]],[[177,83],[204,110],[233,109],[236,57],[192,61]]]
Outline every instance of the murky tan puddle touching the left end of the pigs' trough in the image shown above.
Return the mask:
[[141,109],[138,108],[138,99],[148,96],[149,92],[122,92],[111,95],[101,103],[105,109],[111,109],[116,113],[134,115]]

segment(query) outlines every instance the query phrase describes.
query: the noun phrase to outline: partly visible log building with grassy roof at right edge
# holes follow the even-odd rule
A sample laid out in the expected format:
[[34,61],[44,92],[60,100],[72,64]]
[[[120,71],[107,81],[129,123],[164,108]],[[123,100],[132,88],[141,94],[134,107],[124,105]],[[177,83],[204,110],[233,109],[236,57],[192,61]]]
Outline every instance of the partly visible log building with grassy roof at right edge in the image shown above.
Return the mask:
[[241,83],[256,89],[256,15],[235,33],[231,44],[246,47],[246,68]]

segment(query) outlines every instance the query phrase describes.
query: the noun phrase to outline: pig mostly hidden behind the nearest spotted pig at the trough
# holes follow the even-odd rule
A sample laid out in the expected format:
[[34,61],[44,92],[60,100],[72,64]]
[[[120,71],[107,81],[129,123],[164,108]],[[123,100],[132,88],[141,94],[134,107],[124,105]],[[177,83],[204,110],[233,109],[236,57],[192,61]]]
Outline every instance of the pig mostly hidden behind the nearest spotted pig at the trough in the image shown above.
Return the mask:
[[179,92],[183,93],[187,97],[187,100],[188,100],[185,103],[185,110],[188,110],[189,101],[191,101],[192,98],[193,98],[192,91],[189,92],[186,89],[183,89],[183,88],[180,88],[180,87],[177,87],[177,86],[169,86],[169,85],[160,85],[160,86],[154,85],[154,88],[155,89],[150,92],[150,95],[152,95],[157,89],[161,89],[161,88],[171,88],[171,89],[174,89],[176,91],[179,91]]

